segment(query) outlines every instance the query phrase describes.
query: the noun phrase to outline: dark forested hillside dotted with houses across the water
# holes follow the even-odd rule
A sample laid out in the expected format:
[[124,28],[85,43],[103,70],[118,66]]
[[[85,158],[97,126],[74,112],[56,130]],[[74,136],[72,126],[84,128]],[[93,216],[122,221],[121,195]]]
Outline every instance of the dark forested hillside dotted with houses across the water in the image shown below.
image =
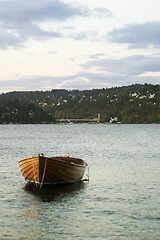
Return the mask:
[[160,85],[0,95],[0,123],[54,123],[96,118],[107,123],[160,123]]

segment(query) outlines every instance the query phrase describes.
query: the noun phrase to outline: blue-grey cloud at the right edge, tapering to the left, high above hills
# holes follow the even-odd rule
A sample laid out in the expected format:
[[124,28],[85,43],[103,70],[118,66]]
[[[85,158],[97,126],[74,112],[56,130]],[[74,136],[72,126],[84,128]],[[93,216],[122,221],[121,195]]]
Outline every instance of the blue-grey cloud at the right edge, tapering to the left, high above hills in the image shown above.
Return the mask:
[[129,44],[130,48],[160,47],[160,21],[143,24],[128,24],[113,29],[106,35],[111,42]]

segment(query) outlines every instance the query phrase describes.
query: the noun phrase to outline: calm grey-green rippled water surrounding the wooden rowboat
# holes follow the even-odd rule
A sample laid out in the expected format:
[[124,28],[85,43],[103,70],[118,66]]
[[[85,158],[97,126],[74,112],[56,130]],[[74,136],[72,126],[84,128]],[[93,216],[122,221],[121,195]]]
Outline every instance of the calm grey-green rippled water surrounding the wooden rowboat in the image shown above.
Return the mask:
[[[36,190],[20,159],[87,161],[89,183]],[[0,125],[0,239],[160,239],[160,125]]]

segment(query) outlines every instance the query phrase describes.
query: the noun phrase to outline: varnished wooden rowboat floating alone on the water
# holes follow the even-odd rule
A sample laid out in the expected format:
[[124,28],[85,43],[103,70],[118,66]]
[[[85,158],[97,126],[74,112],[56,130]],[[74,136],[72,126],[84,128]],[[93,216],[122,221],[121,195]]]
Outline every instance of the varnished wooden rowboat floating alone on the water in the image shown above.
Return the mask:
[[80,181],[85,174],[87,164],[80,158],[38,155],[19,161],[19,166],[27,182],[42,186]]

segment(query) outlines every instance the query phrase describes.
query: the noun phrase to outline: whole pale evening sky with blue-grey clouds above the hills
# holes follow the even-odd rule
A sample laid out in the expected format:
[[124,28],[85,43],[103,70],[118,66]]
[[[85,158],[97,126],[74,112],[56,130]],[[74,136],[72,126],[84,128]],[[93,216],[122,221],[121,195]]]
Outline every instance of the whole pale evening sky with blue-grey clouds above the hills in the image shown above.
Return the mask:
[[0,0],[0,93],[160,84],[159,0]]

